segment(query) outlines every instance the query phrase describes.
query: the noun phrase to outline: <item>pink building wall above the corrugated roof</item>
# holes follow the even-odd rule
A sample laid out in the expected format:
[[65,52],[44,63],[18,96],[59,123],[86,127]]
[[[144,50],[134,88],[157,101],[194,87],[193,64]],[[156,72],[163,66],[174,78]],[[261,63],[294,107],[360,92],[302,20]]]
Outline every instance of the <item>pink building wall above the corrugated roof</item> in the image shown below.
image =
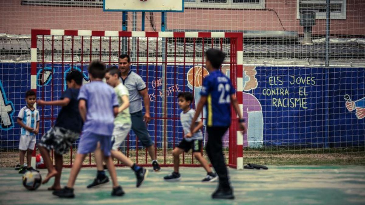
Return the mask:
[[[279,3],[278,3],[279,1]],[[32,28],[69,30],[121,30],[121,12],[103,12],[102,8],[30,6],[20,0],[0,0],[0,32],[30,34]],[[331,20],[331,34],[364,35],[365,3],[347,0],[346,20]],[[277,12],[278,16],[275,14]],[[160,13],[154,13],[160,29]],[[283,26],[280,24],[280,20]],[[131,28],[132,15],[128,16]],[[141,16],[138,14],[138,30]],[[303,28],[296,19],[296,0],[266,0],[266,9],[185,9],[184,13],[168,13],[168,29],[192,30],[268,30],[297,31]],[[314,34],[325,33],[325,20],[316,20]],[[146,31],[152,27],[146,19]]]

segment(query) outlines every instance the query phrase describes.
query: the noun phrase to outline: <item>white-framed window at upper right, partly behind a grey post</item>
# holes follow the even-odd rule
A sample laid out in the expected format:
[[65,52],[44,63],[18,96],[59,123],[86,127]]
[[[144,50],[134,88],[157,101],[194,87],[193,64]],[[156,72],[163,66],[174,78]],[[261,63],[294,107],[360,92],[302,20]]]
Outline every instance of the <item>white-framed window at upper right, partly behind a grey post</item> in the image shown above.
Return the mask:
[[[297,19],[303,10],[315,11],[316,19],[326,19],[326,0],[297,0]],[[331,19],[346,19],[346,0],[331,0]]]

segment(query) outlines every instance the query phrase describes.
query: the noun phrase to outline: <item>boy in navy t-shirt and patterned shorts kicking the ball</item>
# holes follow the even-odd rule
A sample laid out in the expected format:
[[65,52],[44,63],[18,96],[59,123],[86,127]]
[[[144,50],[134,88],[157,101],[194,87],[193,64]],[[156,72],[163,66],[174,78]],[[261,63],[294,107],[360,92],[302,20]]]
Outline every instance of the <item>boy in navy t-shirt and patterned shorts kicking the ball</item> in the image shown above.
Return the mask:
[[[60,98],[55,101],[38,100],[38,105],[57,105],[62,106],[58,113],[56,123],[45,135],[42,136],[39,151],[42,154],[48,174],[42,183],[47,183],[50,178],[55,177],[54,183],[48,190],[61,189],[60,179],[62,171],[62,155],[69,151],[77,138],[80,136],[82,120],[78,112],[77,96],[82,85],[82,74],[79,71],[71,71],[66,76],[66,89]],[[54,150],[55,167],[51,161],[49,151]]]

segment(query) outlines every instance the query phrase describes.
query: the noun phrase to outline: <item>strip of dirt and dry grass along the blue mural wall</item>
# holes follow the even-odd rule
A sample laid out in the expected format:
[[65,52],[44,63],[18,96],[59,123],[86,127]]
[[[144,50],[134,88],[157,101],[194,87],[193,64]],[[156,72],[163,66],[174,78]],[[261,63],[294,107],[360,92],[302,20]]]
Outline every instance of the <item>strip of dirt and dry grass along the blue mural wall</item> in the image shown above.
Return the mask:
[[[257,163],[262,165],[365,165],[365,152],[364,151],[343,151],[333,152],[328,150],[307,150],[307,151],[277,151],[277,150],[246,150],[243,151],[243,162]],[[227,150],[225,151],[227,156]],[[324,153],[323,153],[324,152]],[[129,151],[129,157],[137,162],[137,152],[135,150]],[[205,152],[204,156],[207,156]],[[73,150],[73,156],[75,156],[75,150]],[[91,161],[90,161],[91,159]],[[157,159],[160,164],[172,164],[172,149],[166,150],[166,155],[163,150],[157,150]],[[138,164],[150,164],[151,159],[147,155],[146,162],[146,150],[138,150]],[[226,161],[228,161],[226,157]],[[14,167],[19,163],[18,151],[1,151],[0,152],[0,167]],[[118,164],[117,160],[115,163]],[[192,154],[188,152],[180,157],[180,163],[192,164]],[[70,154],[64,156],[64,164],[70,165]],[[88,156],[84,165],[95,164],[93,155],[91,158]],[[193,159],[193,164],[198,164],[196,159]]]

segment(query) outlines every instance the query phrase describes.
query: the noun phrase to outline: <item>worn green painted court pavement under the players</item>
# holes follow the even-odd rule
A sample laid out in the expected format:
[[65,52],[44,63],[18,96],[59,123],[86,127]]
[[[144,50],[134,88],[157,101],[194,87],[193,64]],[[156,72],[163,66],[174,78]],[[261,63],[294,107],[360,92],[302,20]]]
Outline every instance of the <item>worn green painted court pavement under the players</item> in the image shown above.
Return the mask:
[[[47,191],[53,179],[36,191],[26,190],[22,175],[1,169],[0,204],[365,204],[364,166],[269,166],[269,170],[230,169],[235,200],[212,200],[217,183],[202,183],[201,167],[181,167],[180,182],[165,182],[172,167],[150,173],[145,183],[135,187],[129,168],[118,168],[118,181],[126,195],[112,197],[111,183],[86,189],[96,175],[94,168],[81,170],[75,185],[76,198],[60,199]],[[46,170],[41,170],[44,177]],[[70,169],[64,169],[65,185]]]

